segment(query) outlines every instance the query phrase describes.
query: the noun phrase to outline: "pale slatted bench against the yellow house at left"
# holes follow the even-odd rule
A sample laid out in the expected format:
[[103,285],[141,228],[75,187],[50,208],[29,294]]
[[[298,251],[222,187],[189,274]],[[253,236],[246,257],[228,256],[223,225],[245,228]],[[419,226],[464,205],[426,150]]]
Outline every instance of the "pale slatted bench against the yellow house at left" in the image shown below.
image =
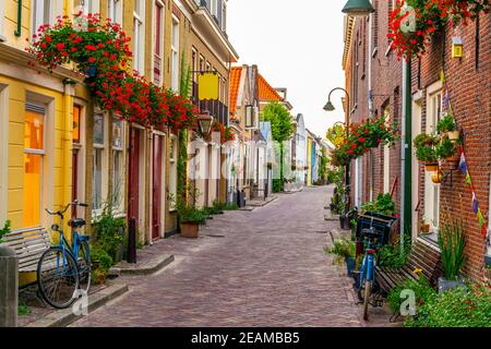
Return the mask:
[[51,248],[49,233],[44,229],[10,232],[2,239],[19,257],[19,273],[36,272],[40,256]]

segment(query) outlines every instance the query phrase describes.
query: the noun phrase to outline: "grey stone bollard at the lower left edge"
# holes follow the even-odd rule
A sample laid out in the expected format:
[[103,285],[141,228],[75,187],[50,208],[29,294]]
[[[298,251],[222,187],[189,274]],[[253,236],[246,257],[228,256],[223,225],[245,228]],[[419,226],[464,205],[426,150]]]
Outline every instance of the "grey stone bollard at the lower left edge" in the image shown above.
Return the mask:
[[0,245],[0,327],[17,326],[19,261],[9,246]]

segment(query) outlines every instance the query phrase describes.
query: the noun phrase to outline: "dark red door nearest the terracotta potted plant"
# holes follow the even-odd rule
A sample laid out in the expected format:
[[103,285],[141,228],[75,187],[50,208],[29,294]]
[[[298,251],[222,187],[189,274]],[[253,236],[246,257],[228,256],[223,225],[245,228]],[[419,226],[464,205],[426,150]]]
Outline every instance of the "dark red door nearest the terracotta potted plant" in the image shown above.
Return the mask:
[[152,190],[152,239],[159,239],[161,233],[161,169],[163,169],[163,136],[154,135],[153,157],[153,190]]

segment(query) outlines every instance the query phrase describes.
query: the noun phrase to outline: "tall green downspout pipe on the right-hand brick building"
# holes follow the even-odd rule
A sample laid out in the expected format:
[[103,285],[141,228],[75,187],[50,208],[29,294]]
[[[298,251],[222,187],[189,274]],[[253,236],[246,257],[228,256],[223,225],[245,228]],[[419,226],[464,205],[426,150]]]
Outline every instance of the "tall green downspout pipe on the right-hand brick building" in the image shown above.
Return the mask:
[[403,117],[400,137],[400,159],[402,159],[402,193],[400,193],[400,253],[404,252],[405,232],[412,231],[412,104],[411,104],[411,60],[407,59],[403,64]]

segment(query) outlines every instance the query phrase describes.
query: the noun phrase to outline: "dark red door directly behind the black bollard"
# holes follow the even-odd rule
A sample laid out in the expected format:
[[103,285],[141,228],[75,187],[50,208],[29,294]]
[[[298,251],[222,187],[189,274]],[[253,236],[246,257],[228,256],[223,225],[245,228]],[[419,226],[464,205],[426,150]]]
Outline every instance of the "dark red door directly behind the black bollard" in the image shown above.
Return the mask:
[[128,189],[128,215],[135,218],[136,224],[140,218],[140,133],[139,129],[130,129],[130,179]]

